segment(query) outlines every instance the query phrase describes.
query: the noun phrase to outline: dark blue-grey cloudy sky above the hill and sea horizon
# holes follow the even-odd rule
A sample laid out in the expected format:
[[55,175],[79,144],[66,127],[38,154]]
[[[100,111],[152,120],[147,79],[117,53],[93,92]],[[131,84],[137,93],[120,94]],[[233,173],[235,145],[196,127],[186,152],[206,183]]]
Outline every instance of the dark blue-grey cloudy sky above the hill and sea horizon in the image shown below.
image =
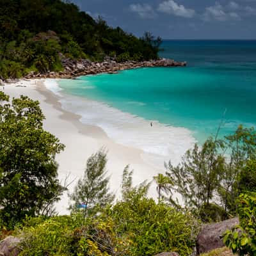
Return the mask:
[[164,39],[256,39],[256,0],[72,0],[136,36]]

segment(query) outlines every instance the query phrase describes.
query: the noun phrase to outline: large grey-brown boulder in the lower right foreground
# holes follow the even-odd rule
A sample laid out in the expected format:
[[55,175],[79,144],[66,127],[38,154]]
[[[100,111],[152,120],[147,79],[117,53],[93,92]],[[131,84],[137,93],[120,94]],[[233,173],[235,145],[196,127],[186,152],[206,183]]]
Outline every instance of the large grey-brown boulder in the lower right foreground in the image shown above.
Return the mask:
[[238,224],[238,218],[233,218],[212,225],[205,225],[196,239],[196,252],[198,255],[225,246],[223,244],[224,232]]

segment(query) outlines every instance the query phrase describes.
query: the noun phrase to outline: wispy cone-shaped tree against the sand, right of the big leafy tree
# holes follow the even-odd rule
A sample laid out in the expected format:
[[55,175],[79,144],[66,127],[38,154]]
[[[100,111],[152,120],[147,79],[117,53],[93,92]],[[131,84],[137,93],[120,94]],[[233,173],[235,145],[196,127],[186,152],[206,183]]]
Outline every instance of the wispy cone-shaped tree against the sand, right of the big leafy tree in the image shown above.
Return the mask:
[[113,202],[115,196],[109,193],[106,177],[106,152],[101,149],[88,158],[83,179],[79,179],[74,192],[69,195],[74,204],[70,209],[76,211],[77,205],[86,205],[84,214],[95,212],[96,207],[104,207]]

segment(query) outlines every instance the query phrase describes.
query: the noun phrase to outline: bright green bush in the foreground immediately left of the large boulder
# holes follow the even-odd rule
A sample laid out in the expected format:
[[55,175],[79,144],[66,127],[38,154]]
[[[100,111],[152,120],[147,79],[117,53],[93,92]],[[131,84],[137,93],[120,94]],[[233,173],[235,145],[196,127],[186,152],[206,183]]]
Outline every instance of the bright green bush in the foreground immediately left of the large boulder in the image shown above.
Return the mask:
[[179,212],[154,200],[139,198],[118,202],[109,211],[117,233],[125,230],[131,239],[131,255],[154,255],[178,252],[180,256],[193,252],[198,223],[189,213]]

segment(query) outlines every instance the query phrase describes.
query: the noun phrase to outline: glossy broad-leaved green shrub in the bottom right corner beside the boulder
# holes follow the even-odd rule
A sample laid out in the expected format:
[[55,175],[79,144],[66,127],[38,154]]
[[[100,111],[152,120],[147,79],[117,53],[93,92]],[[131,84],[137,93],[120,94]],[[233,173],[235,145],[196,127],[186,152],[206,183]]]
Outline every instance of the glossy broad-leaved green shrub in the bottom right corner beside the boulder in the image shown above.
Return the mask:
[[256,255],[256,193],[239,196],[239,225],[228,230],[225,245],[240,256]]

